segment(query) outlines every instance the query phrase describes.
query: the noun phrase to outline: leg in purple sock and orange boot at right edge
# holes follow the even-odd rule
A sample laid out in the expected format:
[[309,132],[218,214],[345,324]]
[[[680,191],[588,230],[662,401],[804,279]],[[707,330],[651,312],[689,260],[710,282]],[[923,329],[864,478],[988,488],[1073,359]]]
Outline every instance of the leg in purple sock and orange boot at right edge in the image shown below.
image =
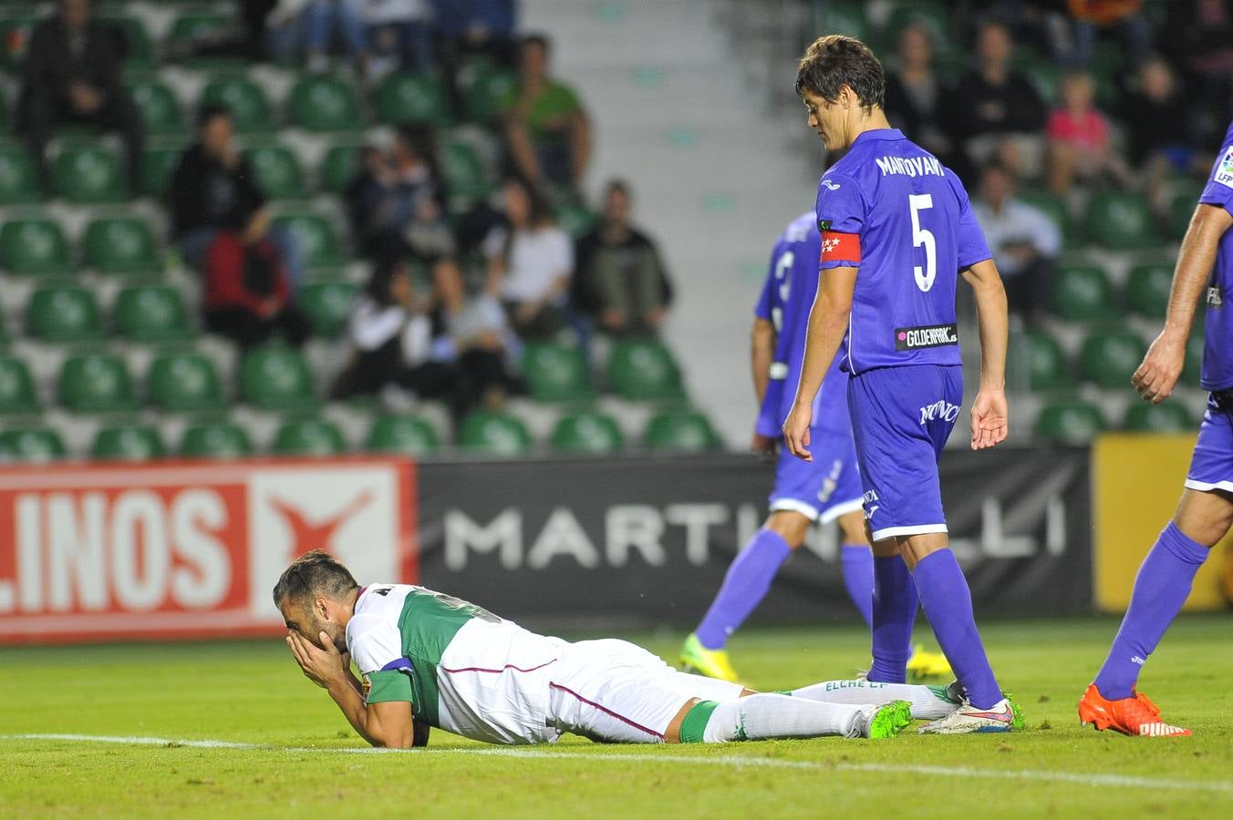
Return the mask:
[[1143,664],[1190,596],[1198,568],[1233,526],[1231,494],[1233,420],[1210,401],[1178,511],[1139,566],[1108,657],[1079,702],[1081,723],[1144,738],[1190,734],[1164,723],[1160,710],[1136,685]]

